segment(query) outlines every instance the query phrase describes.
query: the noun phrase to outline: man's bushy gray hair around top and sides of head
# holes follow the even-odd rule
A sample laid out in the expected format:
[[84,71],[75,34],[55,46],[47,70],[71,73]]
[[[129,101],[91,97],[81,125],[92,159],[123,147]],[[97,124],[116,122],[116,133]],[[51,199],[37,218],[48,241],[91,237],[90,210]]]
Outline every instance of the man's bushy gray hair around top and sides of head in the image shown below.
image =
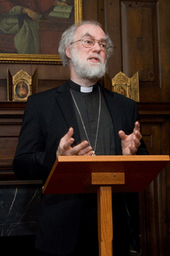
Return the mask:
[[[66,46],[70,45],[71,42],[74,40],[74,36],[76,35],[76,30],[81,27],[82,25],[86,24],[91,24],[98,26],[100,28],[101,25],[97,21],[94,20],[85,20],[76,24],[73,24],[71,27],[69,27],[67,30],[64,31],[63,35],[61,36],[60,42],[59,42],[59,47],[58,47],[58,52],[60,54],[60,58],[63,61],[63,66],[69,66],[69,58],[66,56]],[[113,53],[113,42],[110,39],[110,36],[107,35],[107,43],[111,46],[107,50],[107,58],[110,57]]]

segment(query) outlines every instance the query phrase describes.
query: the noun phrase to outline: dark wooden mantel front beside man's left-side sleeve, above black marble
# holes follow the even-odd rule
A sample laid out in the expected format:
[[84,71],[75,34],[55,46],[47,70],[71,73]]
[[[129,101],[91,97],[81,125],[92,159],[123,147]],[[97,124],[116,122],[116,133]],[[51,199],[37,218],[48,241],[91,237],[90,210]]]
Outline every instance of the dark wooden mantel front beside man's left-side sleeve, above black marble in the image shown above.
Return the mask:
[[42,181],[20,181],[12,171],[12,161],[26,102],[0,102],[0,187],[42,186]]

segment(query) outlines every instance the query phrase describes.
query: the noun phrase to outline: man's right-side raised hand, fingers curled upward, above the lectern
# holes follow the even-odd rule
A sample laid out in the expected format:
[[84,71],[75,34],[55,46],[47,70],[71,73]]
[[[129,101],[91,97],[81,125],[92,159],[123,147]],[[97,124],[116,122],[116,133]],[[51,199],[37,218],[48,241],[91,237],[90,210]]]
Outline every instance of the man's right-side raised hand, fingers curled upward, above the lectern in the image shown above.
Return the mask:
[[134,130],[130,135],[125,135],[120,130],[119,137],[122,140],[122,155],[135,155],[141,145],[140,123],[138,121],[134,123]]

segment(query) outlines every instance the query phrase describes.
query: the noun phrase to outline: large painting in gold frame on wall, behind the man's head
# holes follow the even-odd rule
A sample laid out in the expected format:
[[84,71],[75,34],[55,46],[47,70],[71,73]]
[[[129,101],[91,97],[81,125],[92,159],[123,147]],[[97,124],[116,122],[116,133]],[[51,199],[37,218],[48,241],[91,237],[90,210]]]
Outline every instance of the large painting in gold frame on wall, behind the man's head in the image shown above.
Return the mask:
[[82,20],[82,0],[0,0],[0,62],[61,64],[66,28]]

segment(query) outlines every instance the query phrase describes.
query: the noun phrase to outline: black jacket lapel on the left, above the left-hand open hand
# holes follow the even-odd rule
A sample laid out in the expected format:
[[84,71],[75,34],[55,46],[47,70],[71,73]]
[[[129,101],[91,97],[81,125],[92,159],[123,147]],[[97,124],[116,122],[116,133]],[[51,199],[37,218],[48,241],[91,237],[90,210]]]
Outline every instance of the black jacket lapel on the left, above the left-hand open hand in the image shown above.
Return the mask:
[[57,88],[56,101],[63,114],[64,120],[66,121],[68,130],[70,127],[73,127],[73,138],[75,139],[74,144],[79,143],[79,127],[76,120],[72,96],[70,94],[69,81]]

